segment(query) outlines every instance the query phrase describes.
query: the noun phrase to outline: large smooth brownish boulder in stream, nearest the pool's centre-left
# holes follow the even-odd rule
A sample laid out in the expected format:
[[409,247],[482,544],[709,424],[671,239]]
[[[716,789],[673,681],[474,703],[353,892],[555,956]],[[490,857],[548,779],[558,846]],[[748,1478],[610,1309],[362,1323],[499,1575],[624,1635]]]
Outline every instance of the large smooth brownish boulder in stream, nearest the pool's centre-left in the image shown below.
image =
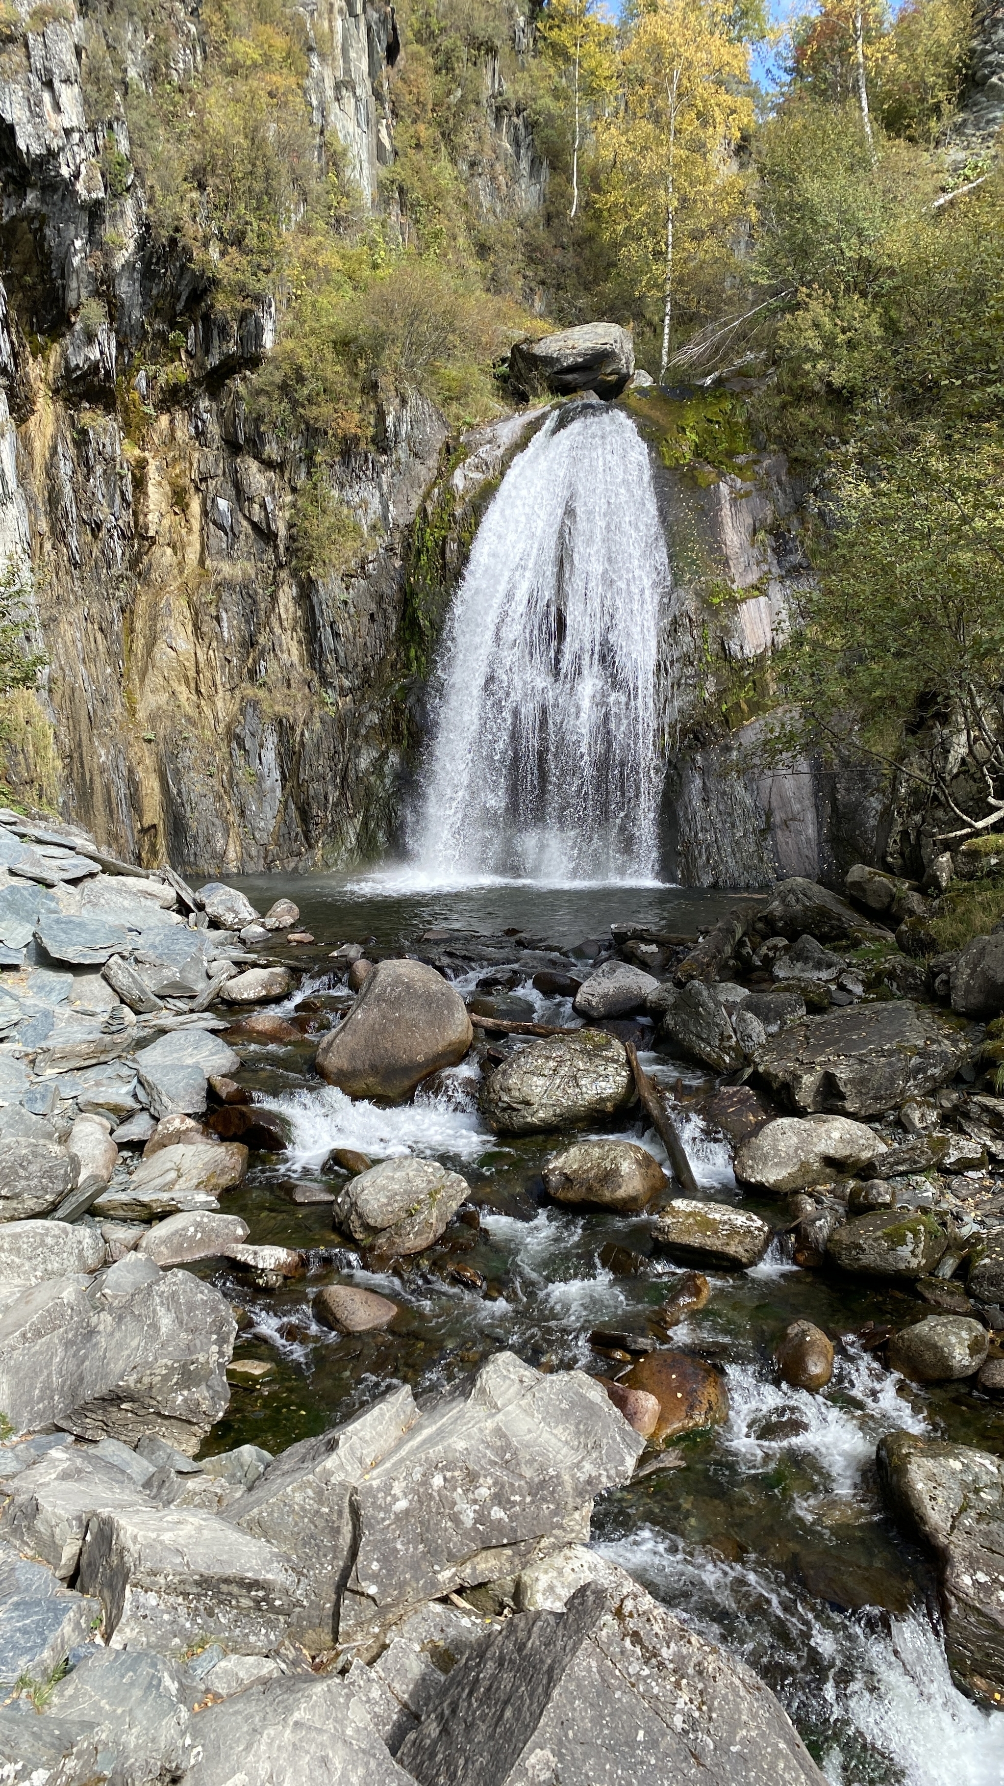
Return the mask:
[[404,1098],[463,1061],[473,1031],[461,995],[423,961],[381,961],[318,1048],[318,1073],[352,1098]]

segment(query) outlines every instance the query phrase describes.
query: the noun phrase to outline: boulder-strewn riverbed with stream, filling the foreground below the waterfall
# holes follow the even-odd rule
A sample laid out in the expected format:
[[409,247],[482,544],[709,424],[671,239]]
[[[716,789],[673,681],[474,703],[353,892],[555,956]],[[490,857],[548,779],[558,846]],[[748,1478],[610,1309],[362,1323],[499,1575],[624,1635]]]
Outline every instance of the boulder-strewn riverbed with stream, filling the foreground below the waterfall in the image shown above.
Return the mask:
[[993,938],[0,857],[5,1777],[1000,1779]]

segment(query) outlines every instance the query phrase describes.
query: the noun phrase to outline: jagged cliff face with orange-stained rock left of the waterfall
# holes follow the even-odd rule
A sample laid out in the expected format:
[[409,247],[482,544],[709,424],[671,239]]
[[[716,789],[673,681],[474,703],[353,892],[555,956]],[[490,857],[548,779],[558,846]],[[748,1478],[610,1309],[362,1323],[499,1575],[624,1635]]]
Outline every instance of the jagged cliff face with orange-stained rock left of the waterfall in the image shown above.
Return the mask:
[[[393,9],[302,11],[318,155],[336,138],[373,205],[393,155]],[[111,120],[88,118],[86,27],[68,4],[21,4],[0,45],[0,550],[30,575],[27,630],[50,664],[38,697],[9,702],[7,780],[145,864],[364,854],[391,823],[402,541],[445,423],[423,400],[379,404],[372,450],[338,466],[370,555],[343,579],[298,579],[289,509],[307,464],[245,407],[275,305],[223,316],[157,243],[120,96]],[[157,29],[179,79],[200,66],[198,7],[173,4]],[[130,80],[150,41],[130,14]],[[518,209],[543,171],[497,89],[488,70],[484,204]]]

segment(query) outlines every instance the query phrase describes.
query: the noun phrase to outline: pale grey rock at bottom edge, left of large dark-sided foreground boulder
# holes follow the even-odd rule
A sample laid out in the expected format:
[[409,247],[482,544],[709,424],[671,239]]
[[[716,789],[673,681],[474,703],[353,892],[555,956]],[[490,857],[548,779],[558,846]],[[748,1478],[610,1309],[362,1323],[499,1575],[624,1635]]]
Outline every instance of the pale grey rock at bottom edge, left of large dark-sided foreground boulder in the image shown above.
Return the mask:
[[197,1734],[184,1786],[414,1786],[338,1675],[250,1686]]

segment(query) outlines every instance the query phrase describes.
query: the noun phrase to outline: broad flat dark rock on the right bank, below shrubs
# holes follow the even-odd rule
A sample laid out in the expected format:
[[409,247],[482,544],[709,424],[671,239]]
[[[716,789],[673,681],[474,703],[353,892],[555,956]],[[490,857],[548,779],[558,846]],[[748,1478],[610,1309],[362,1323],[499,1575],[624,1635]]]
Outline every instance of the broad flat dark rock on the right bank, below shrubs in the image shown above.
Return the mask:
[[947,1084],[970,1054],[958,1023],[900,998],[809,1016],[761,1047],[756,1068],[797,1111],[879,1116]]

